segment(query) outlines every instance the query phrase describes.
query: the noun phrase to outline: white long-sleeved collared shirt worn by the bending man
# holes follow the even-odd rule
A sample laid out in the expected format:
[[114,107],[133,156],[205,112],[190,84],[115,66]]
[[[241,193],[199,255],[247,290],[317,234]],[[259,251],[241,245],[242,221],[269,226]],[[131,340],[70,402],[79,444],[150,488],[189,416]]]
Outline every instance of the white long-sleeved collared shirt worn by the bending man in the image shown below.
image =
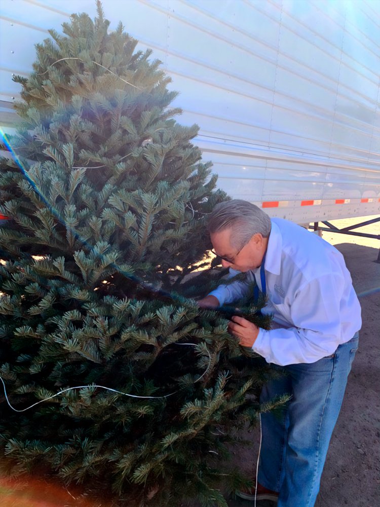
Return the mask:
[[[272,219],[264,269],[269,302],[262,312],[274,314],[274,329],[260,329],[252,349],[268,363],[315,363],[361,328],[361,308],[344,258],[316,234]],[[255,272],[260,284],[259,268]],[[237,273],[230,269],[230,276]],[[246,282],[219,285],[210,294],[220,305],[239,300],[253,275],[249,271]]]

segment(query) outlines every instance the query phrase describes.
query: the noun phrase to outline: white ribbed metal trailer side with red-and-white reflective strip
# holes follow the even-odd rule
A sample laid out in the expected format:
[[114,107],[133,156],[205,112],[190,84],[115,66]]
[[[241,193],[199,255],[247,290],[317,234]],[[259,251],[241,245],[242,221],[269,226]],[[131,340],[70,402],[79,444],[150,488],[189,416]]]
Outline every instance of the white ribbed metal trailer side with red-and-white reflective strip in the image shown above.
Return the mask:
[[[380,212],[380,1],[103,0],[154,49],[230,195],[298,223]],[[2,0],[0,100],[93,0]],[[2,112],[0,108],[0,113]],[[1,123],[1,121],[0,121]]]

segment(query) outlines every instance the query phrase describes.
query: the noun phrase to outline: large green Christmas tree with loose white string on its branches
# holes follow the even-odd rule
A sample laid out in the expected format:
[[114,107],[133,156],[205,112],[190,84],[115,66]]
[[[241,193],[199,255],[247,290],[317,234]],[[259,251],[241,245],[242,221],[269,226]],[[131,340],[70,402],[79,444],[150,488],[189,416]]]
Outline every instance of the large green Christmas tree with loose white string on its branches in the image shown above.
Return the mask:
[[[255,421],[268,373],[227,333],[235,309],[192,299],[223,272],[183,280],[209,264],[205,219],[227,196],[191,143],[198,127],[174,119],[160,61],[108,26],[100,3],[94,22],[71,16],[15,78],[21,122],[0,166],[2,467],[118,505],[226,505],[220,480],[247,484],[220,463],[229,428]],[[268,328],[262,304],[242,311]]]

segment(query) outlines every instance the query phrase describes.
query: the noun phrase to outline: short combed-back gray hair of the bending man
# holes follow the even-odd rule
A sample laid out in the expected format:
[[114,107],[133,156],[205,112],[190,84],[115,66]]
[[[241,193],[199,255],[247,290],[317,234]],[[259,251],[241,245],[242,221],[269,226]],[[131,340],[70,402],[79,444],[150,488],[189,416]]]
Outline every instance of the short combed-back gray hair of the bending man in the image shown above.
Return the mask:
[[214,206],[207,221],[209,233],[233,228],[231,245],[236,248],[241,248],[257,233],[268,238],[271,227],[271,219],[267,213],[251,202],[241,199],[219,202]]

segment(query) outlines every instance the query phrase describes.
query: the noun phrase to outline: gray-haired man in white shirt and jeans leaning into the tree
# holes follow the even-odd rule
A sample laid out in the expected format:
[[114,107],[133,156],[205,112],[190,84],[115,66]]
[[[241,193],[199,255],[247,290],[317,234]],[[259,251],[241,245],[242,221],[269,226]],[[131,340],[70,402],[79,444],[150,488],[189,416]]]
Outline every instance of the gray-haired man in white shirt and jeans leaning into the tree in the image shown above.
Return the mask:
[[[265,385],[260,401],[284,393],[282,419],[262,414],[257,500],[278,507],[313,507],[334,425],[358,347],[361,309],[343,256],[317,235],[270,219],[242,200],[219,203],[208,230],[214,253],[230,274],[247,281],[220,285],[199,301],[217,307],[238,301],[255,278],[273,313],[270,331],[234,316],[230,331],[285,375]],[[239,493],[253,500],[255,490]]]

